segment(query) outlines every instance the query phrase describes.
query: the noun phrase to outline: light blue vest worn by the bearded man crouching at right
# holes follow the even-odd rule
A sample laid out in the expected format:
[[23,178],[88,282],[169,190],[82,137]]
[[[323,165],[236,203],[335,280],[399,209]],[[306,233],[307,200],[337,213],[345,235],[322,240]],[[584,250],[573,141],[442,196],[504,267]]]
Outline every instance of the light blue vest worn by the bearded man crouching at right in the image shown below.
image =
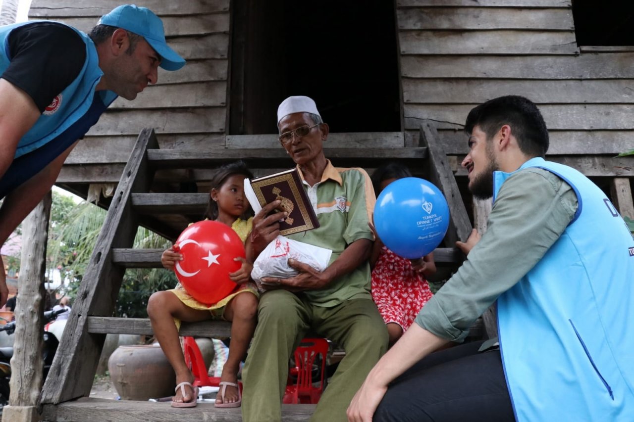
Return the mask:
[[[560,238],[498,298],[500,350],[517,421],[634,421],[634,239],[577,170],[578,210]],[[514,173],[495,172],[494,201]],[[521,242],[521,239],[517,239]]]

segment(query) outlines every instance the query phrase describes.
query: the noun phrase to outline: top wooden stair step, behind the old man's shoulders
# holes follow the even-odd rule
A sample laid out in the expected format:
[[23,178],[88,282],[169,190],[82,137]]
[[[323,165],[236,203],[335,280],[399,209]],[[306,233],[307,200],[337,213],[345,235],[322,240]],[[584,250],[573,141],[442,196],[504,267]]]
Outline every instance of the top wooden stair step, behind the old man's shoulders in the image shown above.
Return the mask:
[[[252,168],[283,169],[293,162],[283,148],[240,148],[214,151],[148,150],[148,160],[155,169],[217,167],[244,160]],[[427,147],[406,148],[324,148],[325,156],[335,166],[377,167],[385,160],[399,160],[406,165],[420,164],[427,157]]]

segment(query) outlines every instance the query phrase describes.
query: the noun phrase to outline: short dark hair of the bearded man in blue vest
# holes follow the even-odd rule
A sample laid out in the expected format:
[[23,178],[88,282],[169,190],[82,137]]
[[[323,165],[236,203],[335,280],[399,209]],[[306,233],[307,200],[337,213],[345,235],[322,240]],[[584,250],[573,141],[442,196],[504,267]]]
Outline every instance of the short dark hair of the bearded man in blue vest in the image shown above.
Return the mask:
[[519,149],[528,157],[544,157],[548,151],[548,129],[540,110],[530,99],[507,95],[489,99],[473,108],[467,116],[465,132],[471,134],[475,126],[495,136],[503,125],[509,125]]

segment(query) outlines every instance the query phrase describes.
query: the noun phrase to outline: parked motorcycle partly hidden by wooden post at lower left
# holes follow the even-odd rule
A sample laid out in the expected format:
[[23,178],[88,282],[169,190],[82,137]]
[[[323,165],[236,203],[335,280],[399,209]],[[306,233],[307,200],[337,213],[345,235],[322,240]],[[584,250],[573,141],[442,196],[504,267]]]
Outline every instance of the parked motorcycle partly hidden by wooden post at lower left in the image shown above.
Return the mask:
[[[68,309],[47,310],[44,312],[44,324],[55,321],[58,315],[68,312]],[[0,331],[5,331],[8,335],[15,332],[15,321],[0,325]],[[57,347],[60,345],[57,337],[49,331],[44,331],[44,345],[42,347],[42,361],[44,371],[42,380],[46,380]],[[13,357],[13,347],[0,347],[0,409],[9,403],[9,380],[11,379],[11,357]]]

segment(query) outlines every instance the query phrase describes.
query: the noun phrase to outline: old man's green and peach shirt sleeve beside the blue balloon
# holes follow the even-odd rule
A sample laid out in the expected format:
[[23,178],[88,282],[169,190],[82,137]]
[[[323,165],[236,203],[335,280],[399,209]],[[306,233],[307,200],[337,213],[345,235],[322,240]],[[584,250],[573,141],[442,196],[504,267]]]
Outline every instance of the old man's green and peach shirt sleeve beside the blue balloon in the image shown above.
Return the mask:
[[344,240],[346,240],[348,245],[359,239],[374,240],[368,222],[370,221],[374,204],[377,201],[372,182],[365,170],[353,169],[350,171],[356,172],[356,175],[346,192],[350,208],[347,213]]

